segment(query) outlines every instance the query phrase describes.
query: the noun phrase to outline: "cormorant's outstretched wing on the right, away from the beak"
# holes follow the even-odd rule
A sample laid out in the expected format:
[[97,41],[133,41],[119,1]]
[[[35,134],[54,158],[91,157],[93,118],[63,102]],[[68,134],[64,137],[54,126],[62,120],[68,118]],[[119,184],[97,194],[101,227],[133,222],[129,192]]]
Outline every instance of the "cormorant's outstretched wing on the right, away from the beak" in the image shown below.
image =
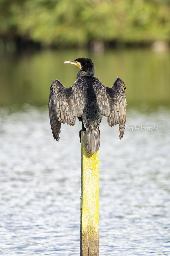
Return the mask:
[[107,117],[109,126],[119,124],[119,139],[122,139],[126,123],[126,96],[125,84],[119,77],[116,78],[111,88],[106,87],[107,97],[110,105],[110,115]]

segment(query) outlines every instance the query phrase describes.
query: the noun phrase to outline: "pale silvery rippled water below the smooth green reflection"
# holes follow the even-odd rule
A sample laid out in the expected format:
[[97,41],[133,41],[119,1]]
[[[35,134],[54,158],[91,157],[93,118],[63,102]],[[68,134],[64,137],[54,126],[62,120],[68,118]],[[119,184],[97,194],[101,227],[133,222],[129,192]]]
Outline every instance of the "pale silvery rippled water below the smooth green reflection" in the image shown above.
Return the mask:
[[[2,108],[0,118],[0,255],[79,255],[81,125],[62,125],[57,143],[46,108]],[[128,109],[119,141],[103,118],[100,256],[170,255],[169,126],[165,108]]]

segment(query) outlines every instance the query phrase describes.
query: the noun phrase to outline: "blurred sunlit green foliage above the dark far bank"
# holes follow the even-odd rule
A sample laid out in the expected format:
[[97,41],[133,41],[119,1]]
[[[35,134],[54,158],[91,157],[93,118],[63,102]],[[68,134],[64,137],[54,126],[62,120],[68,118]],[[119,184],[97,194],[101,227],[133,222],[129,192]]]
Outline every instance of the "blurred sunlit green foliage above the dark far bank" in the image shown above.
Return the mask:
[[0,36],[42,45],[170,41],[169,0],[1,0]]

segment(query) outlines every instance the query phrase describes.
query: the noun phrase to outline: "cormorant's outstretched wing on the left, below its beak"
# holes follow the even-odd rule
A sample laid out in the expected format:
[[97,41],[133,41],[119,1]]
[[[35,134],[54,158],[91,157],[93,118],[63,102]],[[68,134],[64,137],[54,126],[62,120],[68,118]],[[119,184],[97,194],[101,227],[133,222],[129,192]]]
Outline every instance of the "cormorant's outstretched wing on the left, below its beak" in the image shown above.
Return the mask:
[[75,125],[76,118],[70,111],[72,106],[72,87],[66,88],[59,80],[51,84],[48,108],[51,130],[55,140],[59,140],[61,124]]

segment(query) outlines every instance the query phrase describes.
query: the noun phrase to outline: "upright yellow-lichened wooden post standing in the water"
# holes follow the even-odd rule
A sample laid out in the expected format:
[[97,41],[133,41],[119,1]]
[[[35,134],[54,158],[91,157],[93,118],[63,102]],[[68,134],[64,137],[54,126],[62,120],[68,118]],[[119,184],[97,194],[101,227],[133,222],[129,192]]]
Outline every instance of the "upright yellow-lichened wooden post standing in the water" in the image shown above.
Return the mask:
[[99,256],[99,151],[92,154],[81,132],[80,256]]

